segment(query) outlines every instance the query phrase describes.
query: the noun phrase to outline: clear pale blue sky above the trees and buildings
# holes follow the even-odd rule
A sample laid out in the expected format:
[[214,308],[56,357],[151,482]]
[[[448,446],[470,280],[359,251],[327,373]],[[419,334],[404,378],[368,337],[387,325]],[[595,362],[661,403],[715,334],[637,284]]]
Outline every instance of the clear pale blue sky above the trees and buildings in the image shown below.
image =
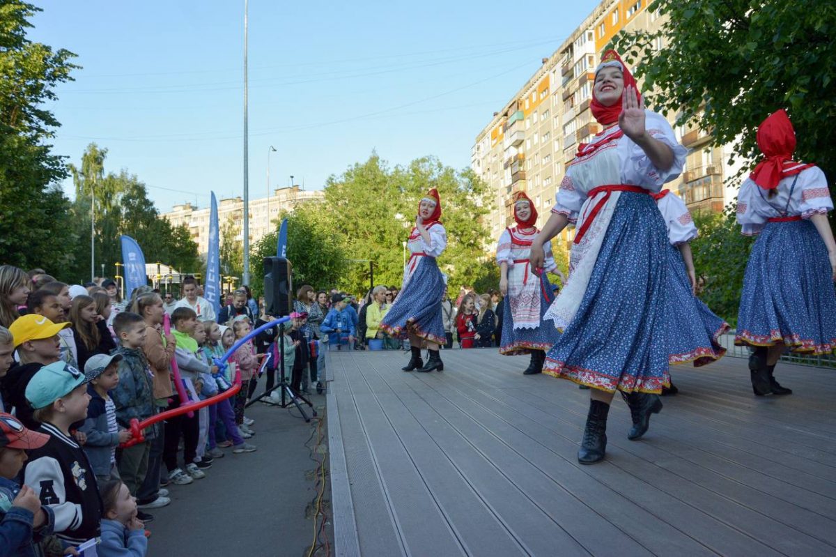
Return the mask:
[[[38,2],[29,38],[78,54],[54,152],[139,176],[161,212],[242,195],[243,0]],[[249,184],[320,189],[373,150],[464,168],[477,133],[594,2],[249,3]],[[64,184],[72,196],[72,184]]]

